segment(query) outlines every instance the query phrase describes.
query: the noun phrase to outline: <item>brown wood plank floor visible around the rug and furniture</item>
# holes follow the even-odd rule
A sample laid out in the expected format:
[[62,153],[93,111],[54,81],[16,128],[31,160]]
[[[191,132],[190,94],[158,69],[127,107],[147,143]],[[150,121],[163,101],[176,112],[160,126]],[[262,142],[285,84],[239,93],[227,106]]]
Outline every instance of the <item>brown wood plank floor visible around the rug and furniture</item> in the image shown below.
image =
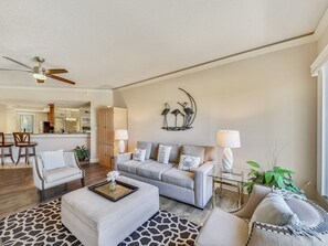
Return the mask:
[[[108,172],[107,167],[99,164],[82,167],[86,173],[86,185],[104,180]],[[81,182],[77,180],[68,183],[67,190],[65,190],[65,185],[49,189],[45,193],[45,202],[61,197],[78,188],[81,188]],[[0,218],[39,204],[40,197],[33,184],[31,168],[0,169]],[[236,195],[233,192],[223,191],[216,205],[223,210],[235,210],[237,206]],[[204,223],[212,210],[211,201],[204,210],[200,210],[163,196],[160,196],[160,207],[199,225]]]

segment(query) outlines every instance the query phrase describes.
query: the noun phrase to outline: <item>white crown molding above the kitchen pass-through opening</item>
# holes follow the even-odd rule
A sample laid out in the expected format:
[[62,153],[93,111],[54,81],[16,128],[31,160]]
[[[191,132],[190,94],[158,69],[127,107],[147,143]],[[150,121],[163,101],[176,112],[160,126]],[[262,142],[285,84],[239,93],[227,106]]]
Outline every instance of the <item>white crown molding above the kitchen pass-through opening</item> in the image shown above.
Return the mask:
[[3,89],[28,89],[28,90],[52,90],[52,92],[82,92],[82,93],[113,93],[112,89],[95,88],[64,88],[64,87],[39,87],[39,86],[18,86],[18,85],[0,85]]

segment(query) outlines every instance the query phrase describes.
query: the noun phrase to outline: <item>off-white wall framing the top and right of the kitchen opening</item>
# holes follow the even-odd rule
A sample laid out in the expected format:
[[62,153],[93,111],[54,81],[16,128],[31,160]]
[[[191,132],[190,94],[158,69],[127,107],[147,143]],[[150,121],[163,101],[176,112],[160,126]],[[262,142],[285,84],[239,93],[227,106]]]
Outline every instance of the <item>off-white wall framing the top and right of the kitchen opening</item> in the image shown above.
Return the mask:
[[[113,105],[110,90],[44,88],[44,87],[0,87],[0,99],[20,99],[34,101],[91,101],[91,159],[97,159],[97,128],[96,114],[99,107]],[[2,121],[2,118],[0,119]]]

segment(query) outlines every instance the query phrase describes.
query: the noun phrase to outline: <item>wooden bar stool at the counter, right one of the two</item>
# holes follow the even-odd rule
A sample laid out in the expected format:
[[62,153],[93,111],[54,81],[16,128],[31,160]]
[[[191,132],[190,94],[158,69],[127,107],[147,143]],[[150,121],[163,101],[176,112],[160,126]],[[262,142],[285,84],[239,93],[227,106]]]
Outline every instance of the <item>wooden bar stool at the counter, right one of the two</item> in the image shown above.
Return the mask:
[[[30,164],[29,157],[35,157],[35,146],[38,142],[31,142],[31,136],[28,132],[12,132],[14,139],[14,146],[19,148],[19,154],[15,164],[20,162],[22,157],[25,158],[25,163]],[[32,152],[30,152],[32,148]],[[24,153],[22,153],[24,149]]]

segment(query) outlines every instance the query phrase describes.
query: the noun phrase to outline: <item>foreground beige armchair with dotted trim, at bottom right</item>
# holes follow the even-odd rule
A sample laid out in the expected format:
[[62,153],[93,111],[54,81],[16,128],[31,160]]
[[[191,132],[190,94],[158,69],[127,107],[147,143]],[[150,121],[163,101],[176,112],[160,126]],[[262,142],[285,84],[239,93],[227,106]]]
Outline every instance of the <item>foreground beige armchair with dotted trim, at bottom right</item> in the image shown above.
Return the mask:
[[290,227],[254,221],[250,223],[258,204],[272,189],[254,185],[247,203],[239,211],[224,212],[214,208],[197,238],[198,246],[300,246],[328,245],[328,215],[315,203],[299,197],[286,199],[287,205],[298,216],[300,223],[315,232],[308,235],[295,234]]

